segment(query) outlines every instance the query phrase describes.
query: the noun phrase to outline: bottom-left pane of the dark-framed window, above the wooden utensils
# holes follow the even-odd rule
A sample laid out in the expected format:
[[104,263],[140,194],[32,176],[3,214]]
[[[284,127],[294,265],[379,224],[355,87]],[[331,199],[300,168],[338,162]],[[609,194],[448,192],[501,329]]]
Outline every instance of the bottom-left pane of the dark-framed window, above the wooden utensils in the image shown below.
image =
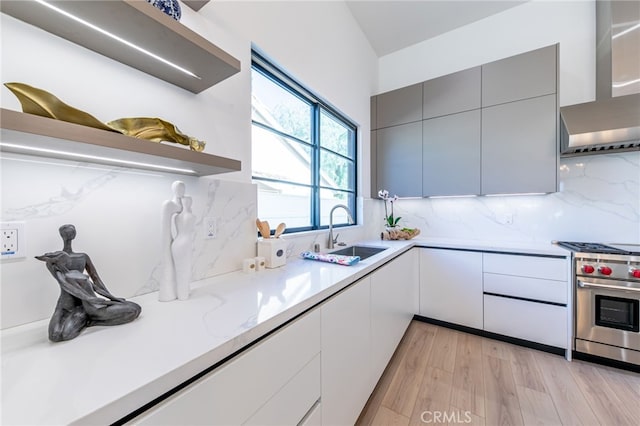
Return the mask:
[[254,180],[258,185],[258,217],[275,228],[280,222],[287,228],[311,226],[311,189],[305,186]]

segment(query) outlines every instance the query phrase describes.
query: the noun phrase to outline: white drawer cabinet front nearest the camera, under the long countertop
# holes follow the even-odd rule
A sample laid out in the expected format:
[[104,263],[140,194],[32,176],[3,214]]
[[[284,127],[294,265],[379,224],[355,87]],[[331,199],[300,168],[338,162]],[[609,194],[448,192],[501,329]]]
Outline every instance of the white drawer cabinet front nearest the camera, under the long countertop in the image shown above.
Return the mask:
[[320,399],[319,354],[320,311],[314,310],[131,423],[296,424]]

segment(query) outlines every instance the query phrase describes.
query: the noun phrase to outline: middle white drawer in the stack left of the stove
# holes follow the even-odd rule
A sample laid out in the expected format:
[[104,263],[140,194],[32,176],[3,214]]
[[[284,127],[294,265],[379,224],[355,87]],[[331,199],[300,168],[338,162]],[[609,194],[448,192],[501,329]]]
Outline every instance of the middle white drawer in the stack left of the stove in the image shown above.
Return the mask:
[[540,278],[517,277],[513,275],[483,274],[484,292],[523,297],[544,302],[567,303],[566,281],[543,280]]

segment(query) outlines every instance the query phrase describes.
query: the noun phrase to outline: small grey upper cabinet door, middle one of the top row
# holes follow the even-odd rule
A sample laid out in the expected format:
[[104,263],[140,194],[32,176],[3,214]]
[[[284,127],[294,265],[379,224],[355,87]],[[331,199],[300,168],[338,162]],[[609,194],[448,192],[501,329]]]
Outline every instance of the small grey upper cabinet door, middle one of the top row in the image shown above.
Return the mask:
[[480,108],[480,67],[434,78],[422,86],[422,118]]

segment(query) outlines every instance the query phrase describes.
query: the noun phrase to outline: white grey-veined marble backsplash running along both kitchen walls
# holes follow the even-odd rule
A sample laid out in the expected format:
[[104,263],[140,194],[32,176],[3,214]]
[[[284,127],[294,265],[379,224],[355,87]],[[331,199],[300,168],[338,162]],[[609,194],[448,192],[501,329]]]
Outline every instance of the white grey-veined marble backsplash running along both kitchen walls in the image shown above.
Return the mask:
[[[194,280],[242,268],[256,253],[256,187],[216,178],[193,178],[4,154],[2,221],[26,224],[25,259],[0,264],[2,328],[48,318],[58,286],[34,256],[62,248],[58,228],[76,226],[74,250],[88,253],[111,292],[132,297],[157,289],[161,206],[182,180],[197,217]],[[434,238],[546,242],[582,240],[640,243],[640,153],[561,160],[560,192],[548,195],[401,199],[401,224]],[[375,239],[384,222],[380,200],[359,199],[359,226],[339,229],[347,243]],[[217,236],[205,239],[203,218],[215,217]],[[287,256],[318,243],[326,230],[286,234]],[[179,303],[179,302],[175,302]]]

